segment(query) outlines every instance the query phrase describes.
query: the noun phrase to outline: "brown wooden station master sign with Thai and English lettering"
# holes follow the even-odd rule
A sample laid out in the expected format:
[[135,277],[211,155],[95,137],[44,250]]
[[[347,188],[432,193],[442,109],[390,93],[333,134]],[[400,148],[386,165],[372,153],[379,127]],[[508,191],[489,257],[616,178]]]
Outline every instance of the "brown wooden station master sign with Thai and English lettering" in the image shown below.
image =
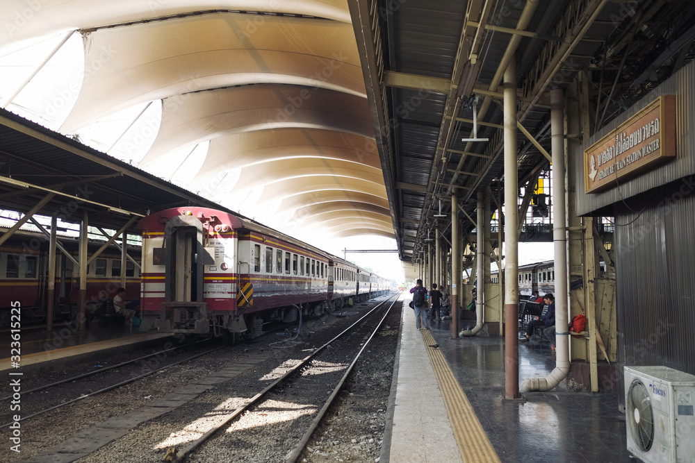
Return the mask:
[[676,96],[660,96],[584,150],[584,191],[620,185],[676,156]]

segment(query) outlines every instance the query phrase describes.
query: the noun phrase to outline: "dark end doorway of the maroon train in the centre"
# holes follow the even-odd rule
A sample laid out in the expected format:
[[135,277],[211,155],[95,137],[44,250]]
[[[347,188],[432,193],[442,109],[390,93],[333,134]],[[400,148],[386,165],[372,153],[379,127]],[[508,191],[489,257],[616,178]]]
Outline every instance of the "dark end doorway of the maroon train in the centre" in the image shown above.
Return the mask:
[[202,302],[203,266],[215,260],[204,248],[197,217],[182,215],[167,221],[165,248],[165,301]]

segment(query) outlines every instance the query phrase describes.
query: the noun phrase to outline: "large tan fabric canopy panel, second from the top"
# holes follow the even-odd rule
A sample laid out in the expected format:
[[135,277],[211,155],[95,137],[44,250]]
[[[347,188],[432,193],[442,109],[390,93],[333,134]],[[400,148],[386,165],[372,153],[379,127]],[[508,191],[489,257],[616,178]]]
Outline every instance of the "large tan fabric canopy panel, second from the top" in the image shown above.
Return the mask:
[[239,13],[167,19],[85,33],[85,76],[60,129],[122,108],[252,83],[311,85],[365,96],[350,24]]

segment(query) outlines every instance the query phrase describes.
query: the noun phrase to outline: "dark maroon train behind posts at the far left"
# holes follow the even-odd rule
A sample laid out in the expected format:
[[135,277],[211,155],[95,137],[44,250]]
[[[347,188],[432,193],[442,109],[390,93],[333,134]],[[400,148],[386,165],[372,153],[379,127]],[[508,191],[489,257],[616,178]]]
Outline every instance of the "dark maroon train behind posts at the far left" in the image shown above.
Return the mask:
[[[62,251],[56,253],[56,300],[54,319],[69,320],[77,314],[79,298],[79,242],[73,237],[59,237]],[[104,242],[89,242],[92,255]],[[9,326],[11,303],[19,301],[22,320],[26,323],[46,321],[48,296],[49,241],[45,235],[19,230],[0,246],[0,327]],[[140,284],[140,247],[129,246],[132,260],[126,262],[126,288],[132,288],[136,297]],[[133,262],[134,261],[134,262]],[[109,246],[92,260],[87,270],[87,300],[96,301],[102,289],[109,297],[120,287],[121,255],[115,246]]]

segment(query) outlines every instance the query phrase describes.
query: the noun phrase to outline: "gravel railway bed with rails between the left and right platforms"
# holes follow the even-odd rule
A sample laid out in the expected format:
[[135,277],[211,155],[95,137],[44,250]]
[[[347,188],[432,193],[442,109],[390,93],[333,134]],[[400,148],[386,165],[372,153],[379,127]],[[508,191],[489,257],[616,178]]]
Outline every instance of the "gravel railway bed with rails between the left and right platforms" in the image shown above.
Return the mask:
[[[183,457],[190,461],[222,461],[228,458],[238,462],[285,460],[301,440],[308,439],[302,438],[302,433],[298,431],[299,424],[302,423],[303,428],[309,429],[318,410],[323,410],[324,414],[326,410],[332,410],[331,405],[327,405],[327,398],[334,401],[338,397],[339,402],[354,404],[359,403],[360,396],[371,398],[374,395],[373,385],[364,385],[361,382],[363,378],[371,377],[370,374],[356,380],[354,375],[350,378],[346,372],[357,362],[352,356],[346,357],[347,349],[350,348],[357,353],[364,348],[366,341],[374,336],[374,330],[367,331],[360,326],[366,323],[376,325],[384,317],[383,314],[379,314],[384,309],[383,304],[376,309],[370,307],[371,305],[357,305],[353,311],[358,314],[352,312],[311,319],[297,339],[297,345],[291,348],[272,348],[277,342],[271,341],[278,339],[277,335],[281,335],[281,332],[272,333],[260,341],[256,339],[253,344],[236,345],[227,351],[200,357],[199,361],[194,360],[178,367],[172,367],[170,364],[165,370],[161,370],[163,374],[142,378],[107,394],[75,401],[69,404],[68,411],[63,409],[44,414],[39,419],[30,419],[26,421],[27,424],[22,424],[22,432],[27,436],[32,435],[41,444],[33,449],[28,457],[44,455],[44,460],[52,458],[56,461],[73,461],[79,455],[81,462],[92,463],[111,460],[116,453],[120,462],[158,462],[162,460],[168,448],[174,447],[178,451],[178,461],[183,460]],[[352,320],[366,312],[369,312],[366,318],[363,317],[357,324],[352,323]],[[398,326],[400,311],[394,311],[391,317],[391,326]],[[352,329],[345,330],[348,323],[352,323]],[[339,331],[341,336],[334,337]],[[375,412],[362,419],[357,426],[366,424],[366,431],[361,431],[362,434],[370,434],[370,424],[371,428],[376,428],[375,439],[370,439],[377,441],[370,444],[373,446],[370,450],[371,455],[376,456],[379,452],[376,448],[379,432],[382,432],[384,426],[384,413],[379,410],[381,416],[377,417],[376,410],[386,408],[398,330],[387,331],[390,333],[389,337],[377,337],[377,345],[379,342],[390,343],[386,347],[386,355],[379,353],[379,357],[391,356],[375,375],[379,377],[381,401],[377,405],[373,405],[372,401],[366,406],[368,410]],[[329,334],[331,332],[333,334]],[[323,339],[329,338],[329,342],[324,342]],[[314,348],[312,343],[316,343],[314,346],[322,346]],[[370,348],[367,346],[366,349],[369,351]],[[300,365],[302,361],[304,366]],[[363,368],[364,362],[358,363],[357,373],[354,374],[361,375]],[[299,373],[288,373],[291,369]],[[281,377],[284,377],[284,382],[277,382],[275,387],[269,387]],[[346,392],[334,392],[334,387],[338,382],[345,382],[345,378],[350,378],[347,382],[352,390],[359,391],[354,397],[352,394],[348,396]],[[328,385],[329,382],[332,384]],[[263,385],[261,389],[264,397],[259,397],[254,404],[252,399],[259,395],[259,385]],[[357,389],[354,389],[355,386]],[[360,390],[360,387],[366,387],[368,394]],[[51,389],[47,391],[51,392]],[[36,394],[43,395],[41,392]],[[244,405],[247,405],[245,410],[238,411]],[[248,422],[249,419],[258,417],[261,421],[267,421],[278,411],[282,414],[283,410],[291,416],[280,418],[278,423],[266,426],[268,423],[263,425]],[[190,449],[192,452],[183,453],[183,448],[212,430],[212,422],[220,423],[223,417],[227,418],[234,412],[237,419],[232,418],[227,426],[221,427],[225,432],[212,431],[209,433],[213,436],[212,442],[198,444]],[[338,412],[332,410],[328,413],[329,419],[343,418],[342,415],[336,418],[337,414]],[[300,419],[297,419],[297,415]],[[288,425],[291,432],[281,430],[283,425]],[[42,437],[42,428],[55,429],[55,432],[51,432],[47,439]],[[320,429],[320,436],[315,435],[313,438],[318,439],[318,444],[312,443],[312,447],[321,448],[321,441],[325,438],[327,430],[328,428]],[[259,435],[263,438],[259,438]],[[121,436],[123,438],[120,438]],[[224,440],[228,438],[233,440],[231,445],[224,444]],[[170,445],[172,440],[174,442]],[[279,441],[286,441],[287,444],[279,446]],[[350,439],[347,442],[349,443]],[[300,450],[305,445],[302,444]],[[272,451],[272,456],[260,457],[257,451],[261,448],[263,453]],[[285,450],[277,453],[277,448]],[[228,449],[243,452],[245,456],[216,455],[218,451]],[[204,456],[209,452],[215,455]],[[318,454],[317,451],[314,455]],[[0,460],[2,459],[0,453]]]

